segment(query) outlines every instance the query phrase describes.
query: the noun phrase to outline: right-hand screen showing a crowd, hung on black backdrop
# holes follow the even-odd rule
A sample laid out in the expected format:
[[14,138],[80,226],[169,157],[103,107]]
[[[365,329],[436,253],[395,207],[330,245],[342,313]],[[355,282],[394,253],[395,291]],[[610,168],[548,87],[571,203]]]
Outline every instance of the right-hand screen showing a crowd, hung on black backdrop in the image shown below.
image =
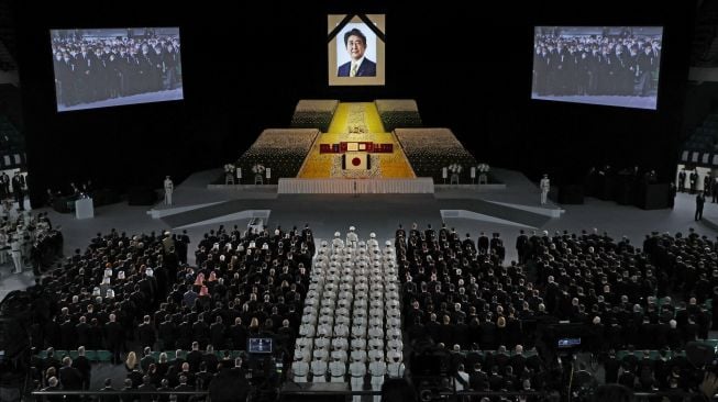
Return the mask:
[[660,26],[538,26],[533,99],[655,109]]

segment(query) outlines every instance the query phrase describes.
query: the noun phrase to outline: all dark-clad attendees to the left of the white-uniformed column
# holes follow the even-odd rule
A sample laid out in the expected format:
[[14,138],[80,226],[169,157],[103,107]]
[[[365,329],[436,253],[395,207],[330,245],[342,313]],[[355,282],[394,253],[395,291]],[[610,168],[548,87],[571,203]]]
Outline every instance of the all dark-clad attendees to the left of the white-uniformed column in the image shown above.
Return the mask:
[[[289,360],[309,286],[311,230],[220,226],[198,243],[196,267],[180,263],[187,243],[169,232],[112,230],[52,271],[32,328],[33,347],[47,350],[35,357],[38,384],[80,389],[59,372],[85,350],[125,361],[130,389],[211,388],[212,378],[244,372],[238,350],[250,337],[274,338],[276,355]],[[79,383],[87,389],[89,379]]]

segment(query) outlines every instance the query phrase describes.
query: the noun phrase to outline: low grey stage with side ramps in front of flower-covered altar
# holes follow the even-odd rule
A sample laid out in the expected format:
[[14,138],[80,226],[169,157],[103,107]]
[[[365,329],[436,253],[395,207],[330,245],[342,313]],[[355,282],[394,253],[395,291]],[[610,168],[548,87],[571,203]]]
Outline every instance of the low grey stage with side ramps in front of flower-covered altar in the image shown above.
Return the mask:
[[[396,179],[411,180],[427,191],[400,193],[400,191],[377,191],[397,187],[395,180],[329,179],[328,190],[284,191],[285,179],[277,185],[257,186],[208,186],[220,170],[202,171],[190,176],[176,186],[175,204],[162,202],[147,213],[161,219],[173,228],[189,228],[213,225],[221,222],[242,222],[262,217],[270,226],[277,224],[310,223],[316,236],[331,236],[335,227],[322,227],[336,216],[345,216],[357,227],[384,227],[387,223],[396,227],[411,222],[441,224],[446,219],[462,219],[476,223],[511,227],[538,228],[551,219],[561,216],[563,210],[556,204],[539,204],[539,190],[520,172],[494,169],[494,177],[501,185],[438,185],[430,178]],[[301,179],[294,179],[301,180]],[[309,180],[312,181],[312,180]],[[354,191],[354,182],[361,191]],[[340,186],[341,185],[341,186]],[[404,183],[411,186],[411,183]],[[320,187],[317,187],[319,189]],[[332,193],[331,189],[346,191]],[[318,231],[318,233],[317,233]]]

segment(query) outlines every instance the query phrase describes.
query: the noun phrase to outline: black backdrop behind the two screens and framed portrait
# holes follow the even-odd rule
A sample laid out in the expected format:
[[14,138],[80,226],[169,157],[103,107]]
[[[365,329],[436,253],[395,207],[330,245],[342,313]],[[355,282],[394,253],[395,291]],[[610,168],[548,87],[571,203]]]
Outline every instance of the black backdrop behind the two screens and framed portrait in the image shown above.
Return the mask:
[[[479,161],[578,181],[596,164],[673,174],[694,1],[18,2],[31,199],[69,181],[161,187],[235,160],[300,99],[416,99]],[[42,12],[40,8],[43,8]],[[327,14],[386,14],[384,87],[329,87]],[[534,25],[663,25],[658,111],[530,99]],[[51,29],[179,26],[184,101],[56,112]]]

